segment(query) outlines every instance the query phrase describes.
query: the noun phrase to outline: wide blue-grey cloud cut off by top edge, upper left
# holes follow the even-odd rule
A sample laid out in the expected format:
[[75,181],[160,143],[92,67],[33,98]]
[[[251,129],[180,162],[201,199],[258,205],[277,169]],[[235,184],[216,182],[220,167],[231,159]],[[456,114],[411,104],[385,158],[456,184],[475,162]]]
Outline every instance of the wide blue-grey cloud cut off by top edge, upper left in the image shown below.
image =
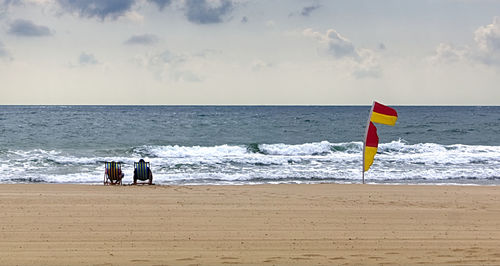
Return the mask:
[[57,0],[63,10],[84,18],[117,19],[130,11],[135,0]]

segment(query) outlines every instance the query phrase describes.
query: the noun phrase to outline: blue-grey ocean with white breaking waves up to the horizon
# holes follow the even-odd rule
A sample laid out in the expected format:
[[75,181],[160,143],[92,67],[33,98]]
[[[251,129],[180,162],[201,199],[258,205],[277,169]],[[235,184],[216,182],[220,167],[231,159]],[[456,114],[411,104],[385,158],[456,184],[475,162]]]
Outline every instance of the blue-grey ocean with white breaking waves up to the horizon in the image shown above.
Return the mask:
[[[500,184],[500,107],[391,106],[367,183]],[[360,183],[370,106],[0,106],[0,183]]]

